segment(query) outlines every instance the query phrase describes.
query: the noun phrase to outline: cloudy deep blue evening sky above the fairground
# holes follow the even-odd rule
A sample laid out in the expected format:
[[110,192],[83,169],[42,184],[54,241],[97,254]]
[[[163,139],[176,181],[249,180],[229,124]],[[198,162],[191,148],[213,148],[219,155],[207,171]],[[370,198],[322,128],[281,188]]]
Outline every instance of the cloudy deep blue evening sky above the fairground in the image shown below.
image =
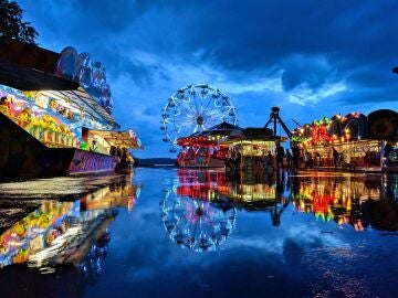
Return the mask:
[[106,68],[114,116],[140,158],[175,157],[160,110],[189,84],[232,97],[239,125],[272,106],[295,124],[350,111],[398,110],[398,2],[357,0],[21,0],[39,45],[72,45]]

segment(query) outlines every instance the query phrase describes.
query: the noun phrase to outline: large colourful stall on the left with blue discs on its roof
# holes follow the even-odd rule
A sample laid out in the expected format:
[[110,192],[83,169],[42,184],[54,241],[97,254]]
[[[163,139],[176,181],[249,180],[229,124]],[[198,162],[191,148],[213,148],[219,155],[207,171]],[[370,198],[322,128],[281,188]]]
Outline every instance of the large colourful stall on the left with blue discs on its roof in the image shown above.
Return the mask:
[[[115,168],[109,150],[121,138],[97,131],[118,134],[119,125],[105,68],[87,53],[0,39],[0,98],[1,179]],[[124,148],[140,147],[134,131],[124,134]]]

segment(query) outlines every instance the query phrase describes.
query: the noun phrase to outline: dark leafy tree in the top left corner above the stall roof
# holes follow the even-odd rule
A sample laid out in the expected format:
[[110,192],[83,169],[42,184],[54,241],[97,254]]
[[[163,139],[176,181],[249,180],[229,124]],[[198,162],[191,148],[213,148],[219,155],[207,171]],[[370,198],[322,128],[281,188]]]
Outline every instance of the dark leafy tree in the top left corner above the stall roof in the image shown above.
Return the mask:
[[15,1],[0,0],[0,36],[36,44],[38,31],[22,21],[23,10]]

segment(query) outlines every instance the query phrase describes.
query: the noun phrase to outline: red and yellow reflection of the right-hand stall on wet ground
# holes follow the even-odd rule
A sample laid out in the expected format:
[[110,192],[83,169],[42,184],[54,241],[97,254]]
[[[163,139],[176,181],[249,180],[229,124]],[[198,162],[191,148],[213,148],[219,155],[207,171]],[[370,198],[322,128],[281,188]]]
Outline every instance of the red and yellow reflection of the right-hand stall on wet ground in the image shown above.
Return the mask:
[[[307,177],[293,179],[293,205],[316,219],[349,224],[364,231],[375,228],[398,231],[398,205],[394,198],[395,178]],[[381,193],[380,185],[388,185]],[[392,188],[392,189],[391,189]],[[386,219],[388,217],[388,219]]]

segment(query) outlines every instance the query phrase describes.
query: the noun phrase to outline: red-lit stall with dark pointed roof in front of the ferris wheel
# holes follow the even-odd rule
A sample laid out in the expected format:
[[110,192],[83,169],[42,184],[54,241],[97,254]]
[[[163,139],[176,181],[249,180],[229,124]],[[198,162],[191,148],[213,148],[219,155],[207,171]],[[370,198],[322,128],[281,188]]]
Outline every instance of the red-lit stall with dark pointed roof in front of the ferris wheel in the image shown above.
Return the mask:
[[223,167],[229,155],[229,146],[220,140],[234,134],[240,134],[242,128],[221,123],[208,130],[198,131],[177,140],[182,151],[177,157],[180,167]]

